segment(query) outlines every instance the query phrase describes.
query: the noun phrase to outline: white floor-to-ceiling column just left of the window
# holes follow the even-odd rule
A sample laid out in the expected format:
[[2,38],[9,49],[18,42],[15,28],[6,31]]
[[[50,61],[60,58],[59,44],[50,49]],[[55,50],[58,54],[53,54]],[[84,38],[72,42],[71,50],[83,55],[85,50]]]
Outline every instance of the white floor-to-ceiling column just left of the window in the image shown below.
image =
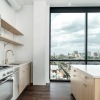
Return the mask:
[[45,85],[49,82],[49,6],[46,0],[34,0],[33,4],[33,84]]

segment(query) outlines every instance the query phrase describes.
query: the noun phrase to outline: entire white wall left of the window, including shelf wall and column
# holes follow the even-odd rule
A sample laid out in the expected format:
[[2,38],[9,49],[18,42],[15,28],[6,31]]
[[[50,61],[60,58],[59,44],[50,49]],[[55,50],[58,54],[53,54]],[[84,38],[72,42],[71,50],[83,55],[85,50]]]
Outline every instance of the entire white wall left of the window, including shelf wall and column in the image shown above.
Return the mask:
[[[49,6],[45,1],[38,0],[34,8],[33,11],[32,5],[25,5],[21,11],[16,13],[5,0],[0,0],[2,18],[24,33],[24,36],[19,36],[19,40],[24,44],[23,47],[8,44],[4,49],[4,42],[0,41],[0,64],[4,61],[5,51],[7,49],[14,51],[16,48],[16,57],[13,57],[11,52],[8,53],[9,62],[14,58],[17,61],[33,61],[34,84],[44,85],[49,83]],[[33,17],[34,21],[32,21]],[[34,33],[33,29],[35,29]]]

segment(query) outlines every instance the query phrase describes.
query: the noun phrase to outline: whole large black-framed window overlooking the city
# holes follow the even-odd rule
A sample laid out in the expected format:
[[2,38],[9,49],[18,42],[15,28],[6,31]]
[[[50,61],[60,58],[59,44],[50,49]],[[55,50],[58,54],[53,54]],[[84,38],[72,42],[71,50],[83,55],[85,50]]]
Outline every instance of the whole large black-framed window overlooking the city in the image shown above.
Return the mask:
[[100,8],[51,8],[50,79],[70,80],[71,64],[100,64]]

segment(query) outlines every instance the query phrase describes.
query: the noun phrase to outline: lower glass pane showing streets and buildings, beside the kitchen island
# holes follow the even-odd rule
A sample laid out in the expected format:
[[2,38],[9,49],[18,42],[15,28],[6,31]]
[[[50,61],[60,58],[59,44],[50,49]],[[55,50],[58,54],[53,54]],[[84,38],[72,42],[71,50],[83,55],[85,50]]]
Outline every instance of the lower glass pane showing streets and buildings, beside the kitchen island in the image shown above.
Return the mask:
[[50,79],[51,80],[70,80],[71,64],[82,64],[83,61],[51,61]]

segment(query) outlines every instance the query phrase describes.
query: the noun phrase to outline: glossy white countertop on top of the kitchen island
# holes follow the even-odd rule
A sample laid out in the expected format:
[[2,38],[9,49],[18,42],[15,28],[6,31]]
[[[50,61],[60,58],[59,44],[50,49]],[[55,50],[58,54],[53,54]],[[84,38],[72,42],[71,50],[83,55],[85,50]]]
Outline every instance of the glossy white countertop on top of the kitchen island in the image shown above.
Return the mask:
[[71,65],[74,68],[77,68],[93,78],[100,78],[100,65]]

